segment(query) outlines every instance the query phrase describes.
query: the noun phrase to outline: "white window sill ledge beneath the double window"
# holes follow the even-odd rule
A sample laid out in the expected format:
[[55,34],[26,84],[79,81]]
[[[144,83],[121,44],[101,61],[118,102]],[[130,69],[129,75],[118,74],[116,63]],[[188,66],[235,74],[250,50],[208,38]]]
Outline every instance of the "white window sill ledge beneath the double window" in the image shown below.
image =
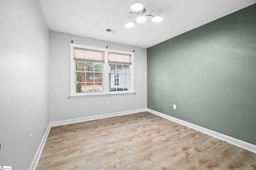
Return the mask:
[[105,93],[105,94],[78,94],[78,95],[70,95],[69,99],[80,99],[80,98],[102,98],[102,97],[110,97],[110,96],[127,96],[127,95],[135,95],[136,92],[122,92],[122,93]]

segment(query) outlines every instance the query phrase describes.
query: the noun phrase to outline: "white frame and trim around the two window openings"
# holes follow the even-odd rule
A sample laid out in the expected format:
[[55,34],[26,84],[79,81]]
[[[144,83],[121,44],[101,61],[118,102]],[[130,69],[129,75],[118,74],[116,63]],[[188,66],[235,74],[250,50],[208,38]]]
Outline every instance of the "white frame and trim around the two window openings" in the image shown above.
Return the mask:
[[[104,51],[104,63],[103,63],[103,75],[102,75],[102,91],[99,93],[76,93],[76,82],[75,82],[75,62],[74,62],[74,47],[82,49],[90,49],[96,51]],[[109,91],[109,64],[108,64],[108,52],[110,53],[120,53],[131,55],[132,64],[130,66],[130,90],[128,91]],[[134,95],[134,53],[129,51],[120,51],[115,49],[107,49],[101,47],[93,47],[88,45],[80,45],[70,43],[70,99],[76,98],[97,98],[97,97],[108,97],[108,96],[124,96],[124,95]]]

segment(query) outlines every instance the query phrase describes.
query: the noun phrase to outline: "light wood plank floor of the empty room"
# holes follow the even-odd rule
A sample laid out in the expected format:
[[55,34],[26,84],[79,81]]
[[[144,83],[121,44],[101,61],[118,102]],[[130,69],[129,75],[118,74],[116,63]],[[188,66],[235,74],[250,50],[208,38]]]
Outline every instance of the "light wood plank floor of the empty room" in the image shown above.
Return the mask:
[[52,127],[37,170],[255,170],[256,153],[149,112]]

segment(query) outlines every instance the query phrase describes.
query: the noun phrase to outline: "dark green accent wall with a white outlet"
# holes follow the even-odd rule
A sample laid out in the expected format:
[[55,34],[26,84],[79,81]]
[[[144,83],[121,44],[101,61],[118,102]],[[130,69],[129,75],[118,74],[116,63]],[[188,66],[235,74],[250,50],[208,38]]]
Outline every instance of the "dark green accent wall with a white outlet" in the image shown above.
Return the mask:
[[149,109],[256,145],[256,4],[147,56]]

